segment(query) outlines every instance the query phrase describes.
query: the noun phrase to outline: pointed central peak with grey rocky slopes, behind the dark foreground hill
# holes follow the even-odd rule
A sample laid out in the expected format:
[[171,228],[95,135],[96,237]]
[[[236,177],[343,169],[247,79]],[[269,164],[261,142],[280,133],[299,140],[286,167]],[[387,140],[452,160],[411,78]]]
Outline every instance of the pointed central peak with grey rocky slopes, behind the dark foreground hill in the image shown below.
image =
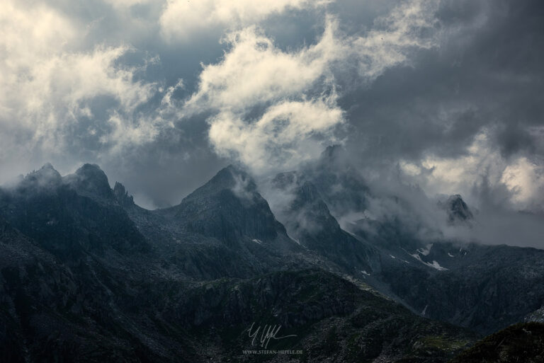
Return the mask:
[[254,181],[232,166],[167,209],[138,207],[120,184],[114,194],[162,256],[164,267],[188,278],[244,278],[310,266],[301,255],[302,248],[276,221]]

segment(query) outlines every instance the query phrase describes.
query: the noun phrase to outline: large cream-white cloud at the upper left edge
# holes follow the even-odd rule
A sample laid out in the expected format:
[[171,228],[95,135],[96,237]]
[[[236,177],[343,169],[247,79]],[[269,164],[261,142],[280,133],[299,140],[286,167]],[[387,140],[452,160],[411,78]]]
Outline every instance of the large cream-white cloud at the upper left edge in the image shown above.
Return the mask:
[[[17,153],[20,159],[28,153],[66,154],[67,144],[95,135],[106,152],[153,139],[160,115],[141,115],[138,108],[159,84],[137,75],[156,59],[125,67],[120,59],[132,52],[129,46],[98,43],[81,50],[86,24],[45,4],[7,0],[1,10],[0,142],[12,147],[2,148],[0,161]],[[107,108],[104,99],[111,100]],[[96,112],[103,113],[103,125],[95,122]],[[23,135],[25,143],[13,142]]]

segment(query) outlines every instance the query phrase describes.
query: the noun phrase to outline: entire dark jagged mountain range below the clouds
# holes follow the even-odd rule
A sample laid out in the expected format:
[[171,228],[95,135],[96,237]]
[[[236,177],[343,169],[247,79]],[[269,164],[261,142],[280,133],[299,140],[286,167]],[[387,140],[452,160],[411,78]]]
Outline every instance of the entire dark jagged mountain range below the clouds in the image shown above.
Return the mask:
[[[342,153],[259,183],[227,166],[165,209],[92,164],[0,188],[0,361],[475,362],[542,330],[544,250],[370,215],[418,214]],[[476,223],[460,195],[436,210]]]

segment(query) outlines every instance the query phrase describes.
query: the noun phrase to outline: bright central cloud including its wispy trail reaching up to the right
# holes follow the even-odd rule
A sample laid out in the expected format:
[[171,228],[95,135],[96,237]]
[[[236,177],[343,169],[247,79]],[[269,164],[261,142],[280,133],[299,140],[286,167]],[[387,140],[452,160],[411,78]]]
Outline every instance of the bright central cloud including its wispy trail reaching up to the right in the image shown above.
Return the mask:
[[344,123],[336,77],[353,74],[362,83],[407,62],[417,48],[436,46],[431,35],[435,4],[409,1],[394,8],[365,35],[346,35],[329,16],[313,45],[280,50],[254,26],[230,33],[229,50],[203,67],[198,91],[185,104],[208,118],[210,142],[222,156],[239,159],[256,173],[293,168],[339,140]]

